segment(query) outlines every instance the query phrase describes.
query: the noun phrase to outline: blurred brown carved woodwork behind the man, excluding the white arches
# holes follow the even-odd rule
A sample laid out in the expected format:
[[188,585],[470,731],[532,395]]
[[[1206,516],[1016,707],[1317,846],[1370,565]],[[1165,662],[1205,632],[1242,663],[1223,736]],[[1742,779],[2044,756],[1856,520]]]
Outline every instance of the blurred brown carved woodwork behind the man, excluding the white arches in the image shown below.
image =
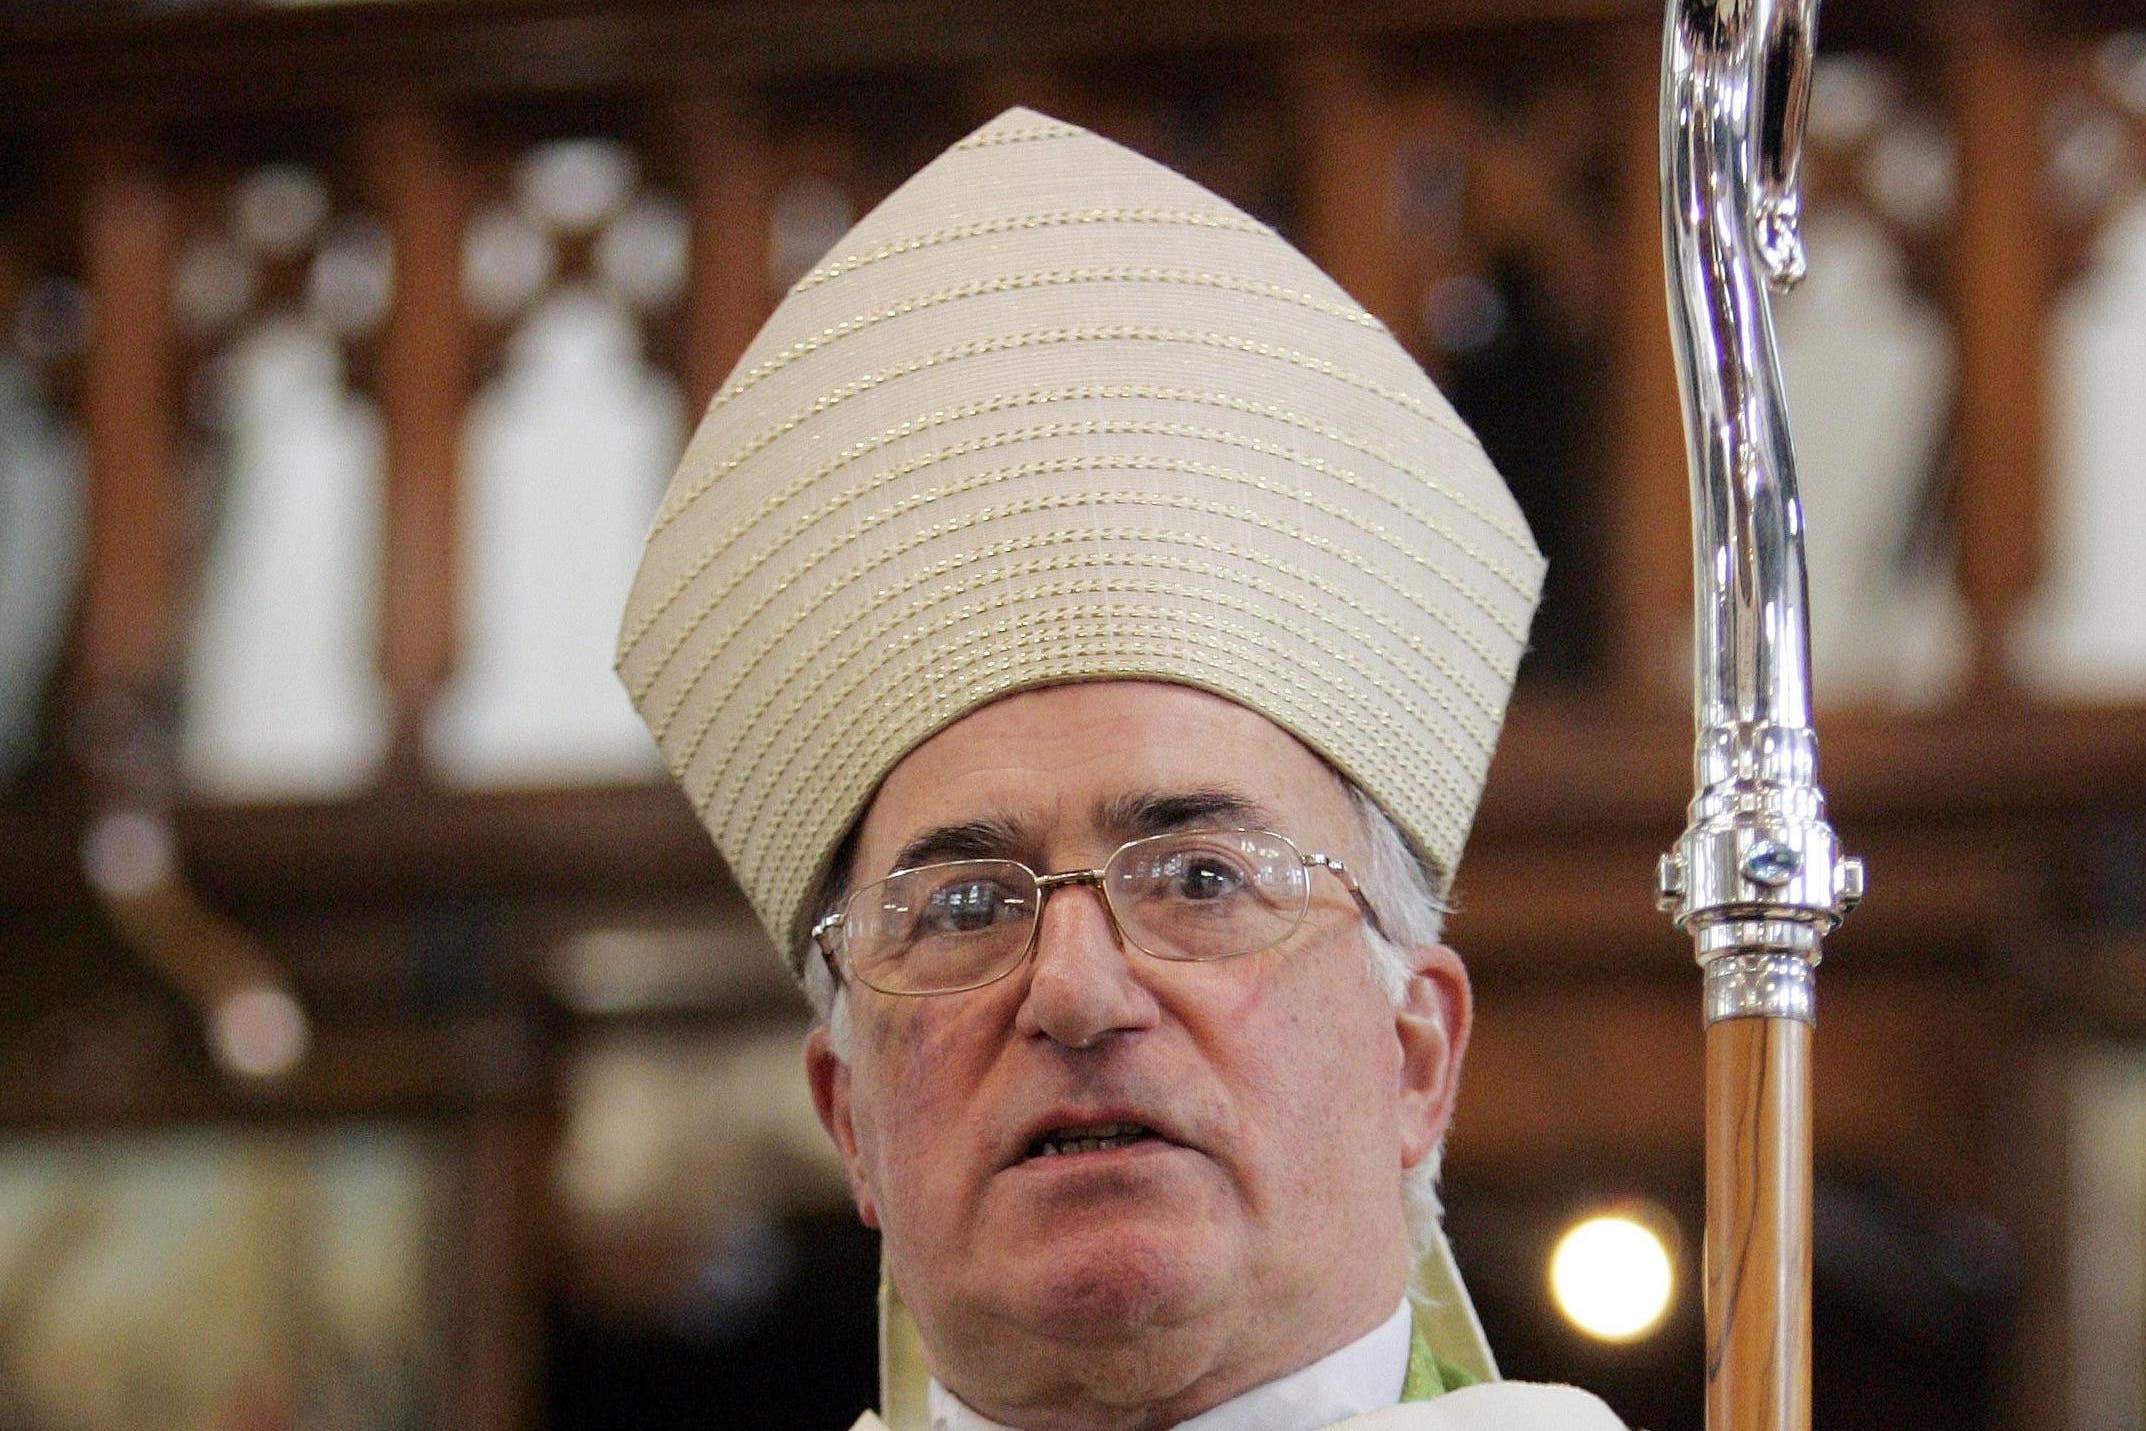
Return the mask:
[[[2052,676],[2034,635],[2082,541],[2146,532],[2137,483],[2075,515],[2067,386],[2082,294],[2135,262],[2118,245],[2146,212],[2142,26],[2146,6],[2058,0],[1831,0],[1820,19],[1813,283],[1824,232],[1852,232],[1886,287],[1813,309],[1798,352],[1820,375],[1873,352],[1895,371],[1908,339],[1835,318],[1886,303],[1929,335],[1910,382],[1861,384],[1906,405],[1796,414],[1798,442],[1899,478],[1831,532],[1850,504],[1828,493],[1878,474],[1809,491],[1813,549],[1899,528],[1861,605],[1828,588],[1816,607],[1839,648],[1818,669],[1822,779],[1871,869],[1818,1030],[1826,1427],[2146,1425],[2146,1270],[2125,1270],[2146,1268],[2146,1174],[2127,1182],[2107,1141],[2146,1128],[2127,1073],[2146,1045],[2146,674]],[[1028,103],[1322,262],[1449,388],[1543,534],[1549,601],[1453,925],[1481,1000],[1453,1227],[1511,1371],[1695,1427],[1697,974],[1650,901],[1691,785],[1659,30],[1629,0],[0,6],[0,320],[86,500],[0,796],[0,1165],[172,1128],[418,1128],[440,1189],[423,1405],[348,1425],[788,1405],[725,1390],[751,1384],[747,1343],[691,1319],[710,1285],[753,1304],[725,1268],[796,1283],[820,1236],[796,1227],[843,1216],[779,1092],[800,1004],[685,802],[633,762],[446,772],[438,708],[470,663],[487,511],[468,433],[530,313],[575,285],[609,294],[635,363],[695,414],[850,219]],[[547,163],[624,189],[532,219]],[[277,202],[311,215],[290,242]],[[605,247],[627,212],[655,255],[640,270],[624,238]],[[348,260],[328,270],[343,290],[324,253]],[[629,303],[635,272],[652,277]],[[337,382],[378,425],[361,551],[384,740],[337,792],[234,794],[182,753],[238,489],[210,399],[234,335],[292,313],[335,328]],[[2116,382],[2146,390],[2146,369]],[[1923,451],[1884,446],[1916,423]],[[1893,620],[1895,577],[1951,624]],[[2105,622],[2137,603],[2116,590]],[[1852,680],[1828,687],[1828,661]],[[155,850],[146,892],[86,873],[86,847],[129,850],[114,813],[170,830],[176,873]],[[266,1073],[217,1043],[219,1000],[255,985],[303,1010],[298,1053]],[[1655,1341],[1601,1347],[1554,1319],[1541,1253],[1560,1219],[1620,1199],[1685,1227],[1685,1300]],[[738,1240],[770,1219],[792,1219],[788,1262]],[[49,1285],[24,1266],[0,1255],[0,1382]],[[869,1287],[869,1244],[843,1266],[833,1287]],[[828,1405],[861,1399],[865,1311],[762,1319],[751,1358],[770,1388],[826,1367]],[[646,1403],[605,1420],[584,1410],[599,1390]]]

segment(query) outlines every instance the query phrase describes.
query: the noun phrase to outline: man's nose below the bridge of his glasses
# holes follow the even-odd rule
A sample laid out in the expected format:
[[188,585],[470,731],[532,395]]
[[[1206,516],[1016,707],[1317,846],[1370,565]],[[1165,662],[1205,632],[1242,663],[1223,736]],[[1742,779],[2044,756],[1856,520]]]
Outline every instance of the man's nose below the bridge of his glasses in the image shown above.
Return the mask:
[[1015,1028],[1069,1049],[1088,1049],[1109,1034],[1150,1028],[1161,1008],[1140,980],[1142,955],[1122,942],[1103,890],[1060,884],[1037,916],[1037,950]]

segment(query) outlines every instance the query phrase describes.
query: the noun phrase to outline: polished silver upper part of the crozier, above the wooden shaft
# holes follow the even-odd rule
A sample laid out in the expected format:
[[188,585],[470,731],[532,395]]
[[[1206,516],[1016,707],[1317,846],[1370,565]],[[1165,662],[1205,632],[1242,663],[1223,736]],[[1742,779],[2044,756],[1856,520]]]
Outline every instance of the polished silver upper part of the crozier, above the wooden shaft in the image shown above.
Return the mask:
[[1818,0],[1670,0],[1663,242],[1691,457],[1697,796],[1661,903],[1708,1021],[1809,1019],[1863,895],[1818,790],[1803,508],[1766,287],[1803,277],[1796,165]]

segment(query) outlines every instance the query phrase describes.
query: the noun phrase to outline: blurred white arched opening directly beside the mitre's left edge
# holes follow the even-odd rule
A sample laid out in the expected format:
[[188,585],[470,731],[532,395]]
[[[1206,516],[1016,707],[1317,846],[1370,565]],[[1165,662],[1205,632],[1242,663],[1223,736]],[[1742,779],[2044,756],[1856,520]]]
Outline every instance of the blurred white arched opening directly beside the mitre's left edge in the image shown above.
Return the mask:
[[678,386],[622,305],[549,294],[464,444],[461,641],[429,732],[459,783],[637,779],[655,744],[612,676],[642,536],[678,457]]

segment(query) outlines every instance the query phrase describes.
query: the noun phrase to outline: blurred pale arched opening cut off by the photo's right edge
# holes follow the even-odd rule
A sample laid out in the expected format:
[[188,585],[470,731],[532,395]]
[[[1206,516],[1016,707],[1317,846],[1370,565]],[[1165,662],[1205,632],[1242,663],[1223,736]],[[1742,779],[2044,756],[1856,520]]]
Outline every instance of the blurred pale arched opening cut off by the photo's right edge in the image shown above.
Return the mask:
[[2015,659],[2047,695],[2146,691],[2146,200],[2101,236],[2092,275],[2058,307],[2054,476],[2037,601]]

